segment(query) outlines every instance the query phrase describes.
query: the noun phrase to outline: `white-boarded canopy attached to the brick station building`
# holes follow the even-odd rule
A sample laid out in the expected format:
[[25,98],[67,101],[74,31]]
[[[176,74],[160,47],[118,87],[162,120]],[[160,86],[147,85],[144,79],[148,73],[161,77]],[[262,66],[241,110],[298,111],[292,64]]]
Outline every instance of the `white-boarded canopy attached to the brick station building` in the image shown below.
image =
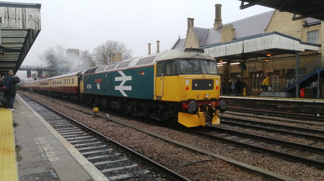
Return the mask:
[[321,45],[302,42],[300,39],[279,32],[255,35],[230,42],[201,47],[216,60],[247,60],[268,57],[266,55],[296,54],[296,52],[320,51]]

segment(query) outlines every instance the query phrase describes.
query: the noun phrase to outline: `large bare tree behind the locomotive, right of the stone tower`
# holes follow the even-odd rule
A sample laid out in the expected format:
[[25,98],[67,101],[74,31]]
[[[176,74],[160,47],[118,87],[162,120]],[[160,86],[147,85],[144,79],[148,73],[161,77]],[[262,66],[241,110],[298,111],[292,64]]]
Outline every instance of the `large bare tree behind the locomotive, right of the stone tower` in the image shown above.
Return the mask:
[[122,60],[133,57],[133,50],[127,49],[123,42],[116,40],[106,40],[105,43],[97,46],[92,53],[92,59],[96,65],[105,65],[110,63],[110,56],[115,56],[116,53],[122,54]]

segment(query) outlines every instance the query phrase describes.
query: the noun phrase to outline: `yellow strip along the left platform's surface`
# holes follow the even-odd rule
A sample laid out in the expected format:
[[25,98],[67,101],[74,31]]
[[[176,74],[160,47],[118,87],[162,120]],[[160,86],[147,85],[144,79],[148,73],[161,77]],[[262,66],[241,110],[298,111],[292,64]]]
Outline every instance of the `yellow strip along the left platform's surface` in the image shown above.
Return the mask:
[[12,112],[0,109],[0,180],[18,180]]

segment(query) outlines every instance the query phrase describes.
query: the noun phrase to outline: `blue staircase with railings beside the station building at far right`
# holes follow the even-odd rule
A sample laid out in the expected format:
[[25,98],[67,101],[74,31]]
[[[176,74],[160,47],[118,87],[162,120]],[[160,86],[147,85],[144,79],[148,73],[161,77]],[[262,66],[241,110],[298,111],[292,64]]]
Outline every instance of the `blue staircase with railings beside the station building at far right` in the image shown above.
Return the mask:
[[[318,79],[318,74],[323,73],[324,55],[319,55],[299,69],[299,89],[302,89],[311,84]],[[282,92],[296,92],[296,83],[294,83],[296,82],[294,81],[295,74],[296,72],[280,82],[281,87],[283,87]],[[293,84],[291,86],[286,87],[287,79],[293,80]]]

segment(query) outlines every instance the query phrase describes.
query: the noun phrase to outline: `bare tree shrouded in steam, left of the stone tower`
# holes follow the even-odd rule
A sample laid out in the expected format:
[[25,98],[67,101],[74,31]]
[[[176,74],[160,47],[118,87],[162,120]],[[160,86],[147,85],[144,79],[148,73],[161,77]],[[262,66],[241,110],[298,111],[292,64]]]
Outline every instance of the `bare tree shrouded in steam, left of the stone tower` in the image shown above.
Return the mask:
[[[62,45],[56,45],[55,48],[50,47],[44,53],[38,55],[38,57],[42,61],[44,61],[47,66],[52,66],[52,67],[64,65],[66,63],[65,56],[66,56],[65,47]],[[56,71],[48,71],[46,76],[52,77],[56,75],[61,75],[61,73]]]

